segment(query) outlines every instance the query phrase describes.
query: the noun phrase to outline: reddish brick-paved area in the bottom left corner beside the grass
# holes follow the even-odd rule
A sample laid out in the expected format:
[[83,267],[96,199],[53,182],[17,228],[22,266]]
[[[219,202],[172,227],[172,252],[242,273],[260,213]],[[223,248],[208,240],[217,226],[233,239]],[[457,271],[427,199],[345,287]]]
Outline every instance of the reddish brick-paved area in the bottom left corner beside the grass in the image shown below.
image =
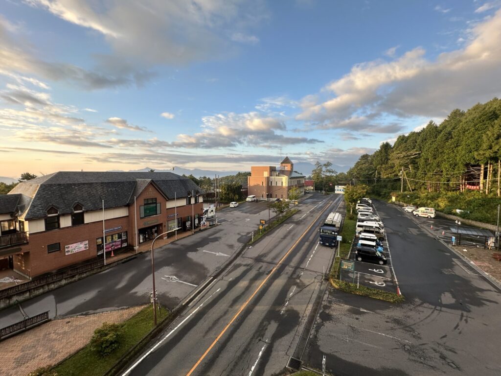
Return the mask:
[[144,306],[53,320],[0,342],[2,376],[26,376],[84,347],[103,322],[127,320]]

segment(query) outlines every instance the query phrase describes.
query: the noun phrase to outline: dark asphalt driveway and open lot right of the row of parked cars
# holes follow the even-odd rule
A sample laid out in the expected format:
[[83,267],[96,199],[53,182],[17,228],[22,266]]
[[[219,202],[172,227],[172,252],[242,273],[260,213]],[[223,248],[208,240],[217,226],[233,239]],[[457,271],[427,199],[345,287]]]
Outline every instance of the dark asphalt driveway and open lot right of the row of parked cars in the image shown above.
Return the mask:
[[501,294],[430,232],[427,219],[375,203],[401,305],[330,289],[306,363],[343,375],[499,375]]

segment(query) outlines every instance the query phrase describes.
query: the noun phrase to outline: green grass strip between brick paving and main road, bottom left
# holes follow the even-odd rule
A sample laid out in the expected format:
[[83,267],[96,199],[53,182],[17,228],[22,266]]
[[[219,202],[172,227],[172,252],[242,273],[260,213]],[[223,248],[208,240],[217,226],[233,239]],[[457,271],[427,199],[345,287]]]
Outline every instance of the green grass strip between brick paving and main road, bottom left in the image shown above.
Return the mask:
[[[158,321],[165,319],[169,312],[162,308],[157,316]],[[102,357],[92,351],[88,344],[53,368],[61,376],[102,376],[130,348],[137,344],[153,329],[153,306],[149,305],[123,322],[120,346],[110,355]]]

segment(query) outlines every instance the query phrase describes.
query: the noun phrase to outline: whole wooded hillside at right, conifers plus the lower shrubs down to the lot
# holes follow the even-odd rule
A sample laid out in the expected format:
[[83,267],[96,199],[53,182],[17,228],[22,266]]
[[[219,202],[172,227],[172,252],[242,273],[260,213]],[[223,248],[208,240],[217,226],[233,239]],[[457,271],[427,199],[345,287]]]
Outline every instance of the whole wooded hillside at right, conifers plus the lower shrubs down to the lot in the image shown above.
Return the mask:
[[501,100],[453,110],[440,124],[381,143],[360,156],[346,177],[374,196],[432,206],[445,213],[496,223],[501,203]]

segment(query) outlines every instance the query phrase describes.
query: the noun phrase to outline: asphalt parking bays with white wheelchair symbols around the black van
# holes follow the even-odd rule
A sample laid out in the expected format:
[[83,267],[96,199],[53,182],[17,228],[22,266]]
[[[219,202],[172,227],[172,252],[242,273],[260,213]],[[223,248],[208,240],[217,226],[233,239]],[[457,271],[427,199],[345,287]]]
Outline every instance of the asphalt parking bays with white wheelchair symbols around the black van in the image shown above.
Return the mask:
[[[374,214],[377,215],[375,209]],[[349,260],[354,263],[354,270],[341,269],[340,279],[351,283],[357,283],[361,286],[397,293],[398,283],[391,264],[391,253],[387,239],[385,238],[382,242],[384,249],[383,254],[387,259],[386,265],[357,261],[355,258],[355,249],[358,241],[359,238],[355,237],[349,256]]]

